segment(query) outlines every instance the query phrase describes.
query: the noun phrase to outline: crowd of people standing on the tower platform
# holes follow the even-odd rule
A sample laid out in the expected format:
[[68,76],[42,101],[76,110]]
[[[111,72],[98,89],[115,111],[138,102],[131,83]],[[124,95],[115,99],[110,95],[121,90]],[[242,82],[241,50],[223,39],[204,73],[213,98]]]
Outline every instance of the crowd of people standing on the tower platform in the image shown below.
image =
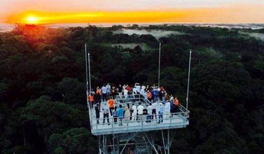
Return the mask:
[[[134,98],[143,98],[147,99],[147,106],[143,106],[141,102],[138,104],[132,102],[130,107],[129,103],[115,103],[115,98],[128,98],[128,95],[132,95]],[[130,88],[129,85],[124,84],[115,87],[111,87],[110,84],[104,85],[101,88],[97,87],[91,92],[88,92],[88,102],[91,109],[95,107],[95,117],[97,124],[99,124],[100,112],[103,112],[103,124],[106,120],[108,125],[110,125],[109,114],[113,117],[114,124],[122,126],[122,120],[124,121],[138,121],[140,122],[143,119],[143,115],[146,116],[146,123],[151,123],[153,119],[156,119],[156,122],[163,122],[164,118],[173,117],[173,115],[179,110],[179,100],[173,95],[168,95],[166,90],[161,86],[144,86],[136,83],[134,88]],[[101,107],[101,103],[103,107]],[[123,105],[126,106],[123,106]],[[145,104],[146,105],[146,104]]]

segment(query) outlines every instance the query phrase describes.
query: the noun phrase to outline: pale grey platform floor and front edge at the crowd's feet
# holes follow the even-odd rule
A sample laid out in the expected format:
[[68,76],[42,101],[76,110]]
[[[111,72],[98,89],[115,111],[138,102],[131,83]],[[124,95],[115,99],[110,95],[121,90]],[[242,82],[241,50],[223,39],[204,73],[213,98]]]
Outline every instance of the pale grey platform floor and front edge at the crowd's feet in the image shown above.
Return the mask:
[[[136,102],[135,104],[137,104]],[[103,108],[105,102],[101,102],[101,109]],[[123,104],[123,103],[122,103]],[[129,105],[131,107],[132,102],[129,102]],[[124,104],[126,105],[126,103]],[[124,106],[123,105],[123,106]],[[144,107],[147,107],[147,104],[143,104]],[[107,103],[108,106],[108,103]],[[146,122],[147,115],[143,115],[141,121],[131,121],[127,120],[125,121],[122,119],[122,126],[119,126],[120,121],[117,120],[117,123],[114,123],[113,117],[109,113],[109,121],[110,125],[108,125],[107,120],[105,121],[105,124],[103,124],[103,112],[100,112],[100,120],[99,124],[96,124],[95,119],[95,110],[94,107],[90,110],[91,111],[91,132],[94,135],[103,135],[103,134],[118,134],[118,133],[130,133],[130,132],[138,132],[138,131],[152,131],[152,130],[161,130],[161,129],[173,129],[173,128],[184,128],[187,125],[189,125],[188,121],[188,115],[186,115],[184,112],[179,112],[177,115],[173,115],[172,118],[166,119],[166,115],[163,114],[163,122],[158,122],[158,115],[157,119],[151,120],[151,123]]]

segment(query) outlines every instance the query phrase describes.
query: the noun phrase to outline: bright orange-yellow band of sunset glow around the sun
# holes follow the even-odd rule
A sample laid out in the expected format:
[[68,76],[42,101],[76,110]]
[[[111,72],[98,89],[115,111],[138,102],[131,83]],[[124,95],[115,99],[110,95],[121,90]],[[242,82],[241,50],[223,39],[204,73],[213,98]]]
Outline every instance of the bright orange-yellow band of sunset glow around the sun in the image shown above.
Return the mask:
[[248,23],[264,22],[264,6],[233,6],[225,8],[193,8],[145,11],[77,11],[40,12],[27,11],[8,17],[7,23]]

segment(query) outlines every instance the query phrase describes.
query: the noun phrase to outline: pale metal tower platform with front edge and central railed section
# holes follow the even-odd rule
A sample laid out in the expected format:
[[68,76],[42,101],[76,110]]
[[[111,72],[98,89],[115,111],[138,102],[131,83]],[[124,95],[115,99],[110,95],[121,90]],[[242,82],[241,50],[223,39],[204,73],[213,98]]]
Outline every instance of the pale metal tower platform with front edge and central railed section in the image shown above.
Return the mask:
[[[136,98],[135,98],[136,97]],[[134,103],[136,106],[138,106],[138,103],[141,102],[141,104],[146,109],[148,104],[150,103],[149,100],[143,98],[139,98],[139,96],[133,96],[128,95],[126,98],[122,95],[121,97],[116,96],[115,97],[115,105],[119,106],[119,104],[122,104],[122,106],[126,106],[127,103],[129,103],[130,107],[132,106],[132,103]],[[101,109],[103,108],[104,104],[108,102],[101,102]],[[103,124],[103,112],[100,112],[100,119],[99,124],[96,122],[95,118],[95,109],[94,107],[89,109],[90,111],[90,127],[91,127],[91,133],[93,135],[107,135],[107,134],[119,134],[119,133],[133,133],[133,132],[145,132],[145,131],[153,131],[153,130],[166,130],[166,129],[175,129],[175,128],[184,128],[187,125],[189,125],[189,111],[183,107],[181,104],[179,104],[179,111],[177,113],[174,113],[173,116],[171,113],[164,113],[163,114],[163,122],[157,123],[159,121],[158,114],[153,116],[153,119],[150,120],[150,123],[146,122],[146,114],[143,114],[140,120],[137,121],[131,121],[122,119],[122,126],[119,126],[121,122],[117,120],[117,123],[114,123],[114,118],[109,113],[109,121],[110,123],[107,123],[107,120],[105,120],[105,124]],[[137,115],[137,119],[138,119]],[[109,125],[110,124],[110,125]]]

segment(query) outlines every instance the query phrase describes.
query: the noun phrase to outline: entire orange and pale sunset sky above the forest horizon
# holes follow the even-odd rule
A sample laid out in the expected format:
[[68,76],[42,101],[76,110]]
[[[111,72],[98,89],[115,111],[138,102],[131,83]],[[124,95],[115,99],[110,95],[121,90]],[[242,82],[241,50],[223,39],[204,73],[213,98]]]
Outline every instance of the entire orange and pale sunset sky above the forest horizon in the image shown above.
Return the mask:
[[[64,0],[58,1],[62,2]],[[153,0],[153,2],[154,1],[155,0]],[[34,6],[34,4],[32,4],[31,7],[26,6],[25,4],[21,4],[20,6],[13,6],[13,8],[15,9],[13,11],[0,11],[0,17],[2,17],[2,22],[26,24],[148,22],[264,23],[264,4],[262,3],[258,5],[234,3],[228,5],[221,4],[220,6],[213,6],[212,4],[211,6],[208,6],[205,4],[204,7],[183,6],[178,8],[166,6],[165,4],[163,6],[156,5],[156,7],[155,5],[152,5],[149,7],[145,7],[146,9],[144,9],[144,7],[142,6],[139,9],[137,9],[137,6],[134,6],[134,8],[124,6],[124,8],[127,9],[113,9],[114,7],[109,7],[107,9],[107,6],[105,6],[105,8],[90,7],[89,9],[78,9],[77,6],[68,6],[69,9],[67,9],[67,6],[63,6],[55,9],[54,5],[56,5],[56,3],[51,3],[50,5],[52,7],[49,7],[49,4],[44,5],[43,3],[43,8],[38,5],[36,5],[36,7],[34,8],[32,7]]]

